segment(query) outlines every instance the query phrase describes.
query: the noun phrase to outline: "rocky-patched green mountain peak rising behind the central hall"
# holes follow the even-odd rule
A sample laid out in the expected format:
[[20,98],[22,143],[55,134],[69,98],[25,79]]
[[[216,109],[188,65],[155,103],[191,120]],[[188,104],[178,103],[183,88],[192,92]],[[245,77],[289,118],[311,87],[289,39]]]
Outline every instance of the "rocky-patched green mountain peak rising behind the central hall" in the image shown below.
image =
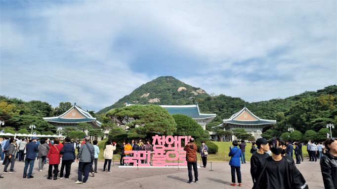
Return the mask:
[[126,102],[131,104],[157,104],[157,105],[186,105],[194,104],[209,97],[204,90],[192,87],[175,79],[172,76],[162,76],[135,89],[115,104],[98,112],[106,113],[113,108],[124,107]]

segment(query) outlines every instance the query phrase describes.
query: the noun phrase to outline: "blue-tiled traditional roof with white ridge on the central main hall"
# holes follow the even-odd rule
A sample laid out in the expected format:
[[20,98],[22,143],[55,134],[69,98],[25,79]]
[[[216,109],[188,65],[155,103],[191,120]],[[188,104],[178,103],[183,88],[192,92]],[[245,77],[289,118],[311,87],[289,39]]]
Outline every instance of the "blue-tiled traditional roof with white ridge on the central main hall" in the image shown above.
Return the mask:
[[216,114],[202,114],[200,113],[198,104],[196,105],[160,105],[167,109],[170,114],[183,114],[192,119],[209,119],[215,118]]

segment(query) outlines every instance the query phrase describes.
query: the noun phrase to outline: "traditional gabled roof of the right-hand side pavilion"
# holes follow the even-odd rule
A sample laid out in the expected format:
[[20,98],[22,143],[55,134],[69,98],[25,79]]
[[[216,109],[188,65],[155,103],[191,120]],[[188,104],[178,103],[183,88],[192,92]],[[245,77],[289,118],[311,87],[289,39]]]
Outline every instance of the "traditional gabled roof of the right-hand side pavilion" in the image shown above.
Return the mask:
[[233,114],[229,119],[223,120],[224,124],[233,125],[268,125],[276,124],[276,120],[264,120],[255,116],[249,109],[245,106],[239,112]]

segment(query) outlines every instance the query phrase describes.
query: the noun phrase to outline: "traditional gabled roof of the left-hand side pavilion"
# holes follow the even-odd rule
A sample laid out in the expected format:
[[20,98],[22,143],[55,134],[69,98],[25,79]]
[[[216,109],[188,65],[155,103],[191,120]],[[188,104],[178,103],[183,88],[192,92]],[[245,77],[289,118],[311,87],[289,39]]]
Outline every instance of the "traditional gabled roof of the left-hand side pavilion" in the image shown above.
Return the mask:
[[69,110],[57,117],[43,118],[43,120],[52,123],[63,124],[76,124],[76,123],[89,123],[94,126],[101,126],[101,123],[92,117],[87,111],[74,104]]

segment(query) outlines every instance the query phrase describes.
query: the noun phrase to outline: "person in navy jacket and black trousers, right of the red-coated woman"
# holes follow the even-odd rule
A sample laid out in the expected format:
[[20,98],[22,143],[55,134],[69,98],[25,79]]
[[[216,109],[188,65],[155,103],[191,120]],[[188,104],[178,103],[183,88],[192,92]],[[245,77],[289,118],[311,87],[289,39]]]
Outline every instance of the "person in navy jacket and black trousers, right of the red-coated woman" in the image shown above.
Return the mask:
[[66,180],[68,180],[71,170],[71,164],[75,161],[76,154],[74,144],[71,143],[70,138],[66,137],[64,140],[66,143],[63,145],[62,150],[60,151],[60,154],[62,155],[62,165],[59,179],[63,179],[63,172],[65,167],[66,174],[64,177]]

